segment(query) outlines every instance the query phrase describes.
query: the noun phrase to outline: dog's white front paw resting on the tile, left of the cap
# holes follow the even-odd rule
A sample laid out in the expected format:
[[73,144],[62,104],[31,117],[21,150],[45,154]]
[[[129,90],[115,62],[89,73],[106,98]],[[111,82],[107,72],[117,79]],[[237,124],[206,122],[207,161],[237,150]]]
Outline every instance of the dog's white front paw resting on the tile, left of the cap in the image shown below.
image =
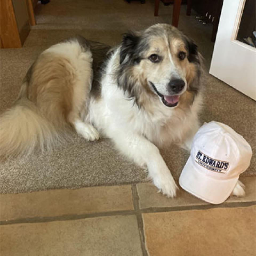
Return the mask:
[[167,197],[174,198],[178,189],[173,176],[169,173],[161,177],[153,178],[154,185],[159,189],[159,193],[163,193]]

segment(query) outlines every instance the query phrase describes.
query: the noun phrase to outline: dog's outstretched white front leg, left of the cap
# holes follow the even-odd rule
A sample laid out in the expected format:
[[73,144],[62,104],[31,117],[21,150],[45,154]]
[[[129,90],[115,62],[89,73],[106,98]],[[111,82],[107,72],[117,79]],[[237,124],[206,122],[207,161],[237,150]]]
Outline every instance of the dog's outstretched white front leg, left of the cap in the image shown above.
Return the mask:
[[136,134],[115,133],[111,136],[118,149],[138,165],[147,165],[149,178],[167,197],[174,197],[178,187],[158,148],[145,137]]

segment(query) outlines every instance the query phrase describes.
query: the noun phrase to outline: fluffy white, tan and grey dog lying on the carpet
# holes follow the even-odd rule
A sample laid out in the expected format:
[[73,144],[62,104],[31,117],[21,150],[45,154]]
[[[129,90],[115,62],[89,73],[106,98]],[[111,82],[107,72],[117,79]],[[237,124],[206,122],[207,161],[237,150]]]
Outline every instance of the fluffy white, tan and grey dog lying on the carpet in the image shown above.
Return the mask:
[[[15,105],[0,119],[0,157],[50,149],[73,129],[113,140],[167,197],[177,185],[159,147],[190,150],[202,105],[202,57],[181,31],[156,24],[110,48],[83,37],[39,55]],[[235,195],[243,195],[237,183]]]

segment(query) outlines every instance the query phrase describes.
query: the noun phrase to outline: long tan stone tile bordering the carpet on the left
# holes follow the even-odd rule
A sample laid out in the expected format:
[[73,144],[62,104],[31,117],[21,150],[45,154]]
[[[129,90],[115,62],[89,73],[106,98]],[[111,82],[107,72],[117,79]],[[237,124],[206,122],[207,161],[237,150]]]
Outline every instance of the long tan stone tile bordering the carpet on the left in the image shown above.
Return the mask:
[[0,219],[133,210],[131,185],[0,195]]

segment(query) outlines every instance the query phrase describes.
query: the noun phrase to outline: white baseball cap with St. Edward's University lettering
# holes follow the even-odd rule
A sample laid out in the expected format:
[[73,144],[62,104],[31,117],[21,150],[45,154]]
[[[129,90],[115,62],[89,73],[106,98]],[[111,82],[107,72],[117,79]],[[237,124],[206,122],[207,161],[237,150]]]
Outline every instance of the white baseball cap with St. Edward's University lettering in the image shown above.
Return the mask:
[[223,123],[205,123],[193,139],[190,157],[179,177],[180,186],[206,202],[223,203],[239,174],[250,165],[248,142]]

